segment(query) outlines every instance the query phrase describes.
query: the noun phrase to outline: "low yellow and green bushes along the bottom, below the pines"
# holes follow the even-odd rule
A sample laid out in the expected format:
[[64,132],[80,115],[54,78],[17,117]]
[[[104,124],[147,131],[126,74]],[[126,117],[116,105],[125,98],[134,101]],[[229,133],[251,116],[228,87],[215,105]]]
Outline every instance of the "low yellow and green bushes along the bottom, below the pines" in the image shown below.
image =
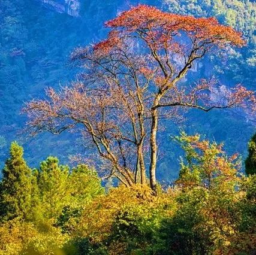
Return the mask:
[[[166,251],[186,248],[199,252],[198,248],[209,254],[236,254],[252,249],[256,242],[255,235],[239,233],[243,218],[239,203],[245,197],[245,192],[228,186],[212,190],[174,187],[158,196],[147,186],[119,186],[85,205],[70,236],[52,227],[52,222],[37,226],[19,221],[3,224],[0,254],[64,255],[65,249],[80,249],[77,239],[85,245],[84,254],[91,250],[95,254],[103,250],[108,254],[148,254],[147,249],[153,247],[158,252],[161,245]],[[186,247],[190,243],[193,247]]]

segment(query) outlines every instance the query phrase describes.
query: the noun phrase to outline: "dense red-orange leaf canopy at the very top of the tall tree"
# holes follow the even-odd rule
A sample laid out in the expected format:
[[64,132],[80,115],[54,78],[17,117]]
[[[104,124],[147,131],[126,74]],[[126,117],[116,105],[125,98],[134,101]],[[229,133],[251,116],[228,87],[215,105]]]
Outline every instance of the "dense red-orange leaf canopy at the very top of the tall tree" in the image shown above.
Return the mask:
[[200,44],[219,46],[225,43],[237,46],[245,44],[239,32],[234,31],[231,27],[220,25],[213,17],[195,18],[165,13],[147,5],[137,5],[137,7],[124,11],[116,19],[106,22],[106,26],[119,28],[127,33],[135,32],[147,43],[158,44],[158,47],[160,45],[167,47],[166,44],[170,43],[170,38],[181,31]]

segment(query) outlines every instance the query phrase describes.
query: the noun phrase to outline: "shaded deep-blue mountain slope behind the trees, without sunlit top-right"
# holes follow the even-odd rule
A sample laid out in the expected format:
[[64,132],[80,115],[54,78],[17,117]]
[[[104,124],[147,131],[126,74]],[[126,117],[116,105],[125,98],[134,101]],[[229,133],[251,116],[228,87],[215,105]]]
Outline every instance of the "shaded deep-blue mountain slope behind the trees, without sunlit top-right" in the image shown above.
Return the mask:
[[[77,45],[104,38],[107,34],[104,21],[138,2],[162,6],[161,1],[153,0],[0,0],[1,162],[7,155],[8,144],[14,139],[23,143],[32,166],[49,154],[67,162],[70,154],[83,150],[83,147],[76,146],[79,143],[76,134],[43,134],[27,139],[19,133],[26,121],[25,116],[20,116],[20,109],[25,101],[42,97],[47,86],[59,87],[59,84],[67,84],[76,78],[77,70],[66,65],[70,51]],[[208,60],[201,63],[200,72],[194,72],[192,76],[212,74],[213,63]],[[243,66],[239,68],[237,73],[243,72]],[[218,73],[218,76],[228,85],[237,82],[232,74]],[[245,80],[245,83],[254,87],[252,78]],[[159,177],[162,180],[170,180],[177,175],[180,151],[168,137],[176,135],[179,129],[204,133],[210,139],[224,141],[230,153],[239,151],[243,155],[246,154],[246,142],[255,131],[254,120],[249,120],[239,111],[214,111],[209,114],[192,111],[181,126],[170,122],[163,124],[165,131],[159,134]]]

